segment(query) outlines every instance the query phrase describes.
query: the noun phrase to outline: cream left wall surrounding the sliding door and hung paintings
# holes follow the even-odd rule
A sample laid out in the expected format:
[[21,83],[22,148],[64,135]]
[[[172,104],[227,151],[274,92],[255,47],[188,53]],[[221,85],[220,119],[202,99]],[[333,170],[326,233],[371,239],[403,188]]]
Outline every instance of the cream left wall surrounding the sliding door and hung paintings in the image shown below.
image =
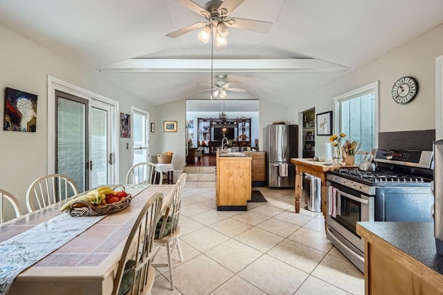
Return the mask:
[[[37,132],[22,133],[0,131],[0,188],[14,194],[21,206],[25,206],[25,194],[29,184],[47,173],[47,75],[80,86],[94,93],[120,102],[120,111],[130,113],[131,106],[150,112],[157,120],[156,108],[123,88],[98,77],[95,70],[81,68],[33,40],[0,25],[0,87],[10,87],[33,93],[37,100]],[[1,95],[3,97],[3,95]],[[3,114],[4,102],[0,103]],[[1,120],[3,123],[3,119]],[[120,131],[118,131],[120,132]],[[152,150],[156,153],[156,133]],[[120,139],[120,180],[132,165],[131,150],[126,149],[130,139]]]

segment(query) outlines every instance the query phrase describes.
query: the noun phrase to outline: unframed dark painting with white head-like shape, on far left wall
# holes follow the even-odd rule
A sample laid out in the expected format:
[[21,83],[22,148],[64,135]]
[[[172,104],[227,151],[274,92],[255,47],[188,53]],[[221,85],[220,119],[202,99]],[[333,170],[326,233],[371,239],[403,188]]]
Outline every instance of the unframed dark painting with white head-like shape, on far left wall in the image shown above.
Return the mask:
[[3,130],[35,132],[37,128],[37,95],[6,88]]

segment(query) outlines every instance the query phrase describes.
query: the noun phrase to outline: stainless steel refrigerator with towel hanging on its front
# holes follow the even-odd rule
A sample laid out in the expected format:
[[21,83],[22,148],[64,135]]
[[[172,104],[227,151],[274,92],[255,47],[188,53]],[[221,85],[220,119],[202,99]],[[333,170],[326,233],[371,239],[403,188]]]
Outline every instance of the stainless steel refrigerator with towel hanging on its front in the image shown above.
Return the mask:
[[296,171],[291,158],[298,158],[298,125],[268,125],[263,129],[263,139],[268,187],[293,188]]

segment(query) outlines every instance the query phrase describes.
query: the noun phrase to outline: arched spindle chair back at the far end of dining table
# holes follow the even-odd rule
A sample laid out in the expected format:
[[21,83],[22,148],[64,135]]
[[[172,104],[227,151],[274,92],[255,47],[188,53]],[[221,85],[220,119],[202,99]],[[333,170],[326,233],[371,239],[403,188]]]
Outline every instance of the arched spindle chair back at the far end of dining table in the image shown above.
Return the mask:
[[159,166],[151,162],[135,164],[127,171],[127,184],[161,184],[163,173]]

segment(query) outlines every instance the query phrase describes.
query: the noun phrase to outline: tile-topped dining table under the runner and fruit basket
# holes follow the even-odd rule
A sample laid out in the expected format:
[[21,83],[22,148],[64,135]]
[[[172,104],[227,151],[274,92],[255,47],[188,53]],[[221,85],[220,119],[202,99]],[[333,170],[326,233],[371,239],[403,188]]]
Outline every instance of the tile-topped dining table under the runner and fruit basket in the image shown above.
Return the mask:
[[[75,238],[24,269],[15,277],[7,294],[111,294],[118,262],[138,213],[155,193],[163,193],[162,209],[165,210],[174,189],[173,184],[138,187],[137,184],[132,184],[132,187],[125,185],[128,192],[136,192],[132,193],[129,207],[106,215]],[[39,227],[48,220],[60,218],[60,221],[57,219],[57,222],[61,223],[58,226],[63,229],[69,223],[78,221],[78,218],[90,218],[72,217],[65,211],[60,211],[68,200],[3,223],[0,226],[0,244],[32,231],[34,227]]]

